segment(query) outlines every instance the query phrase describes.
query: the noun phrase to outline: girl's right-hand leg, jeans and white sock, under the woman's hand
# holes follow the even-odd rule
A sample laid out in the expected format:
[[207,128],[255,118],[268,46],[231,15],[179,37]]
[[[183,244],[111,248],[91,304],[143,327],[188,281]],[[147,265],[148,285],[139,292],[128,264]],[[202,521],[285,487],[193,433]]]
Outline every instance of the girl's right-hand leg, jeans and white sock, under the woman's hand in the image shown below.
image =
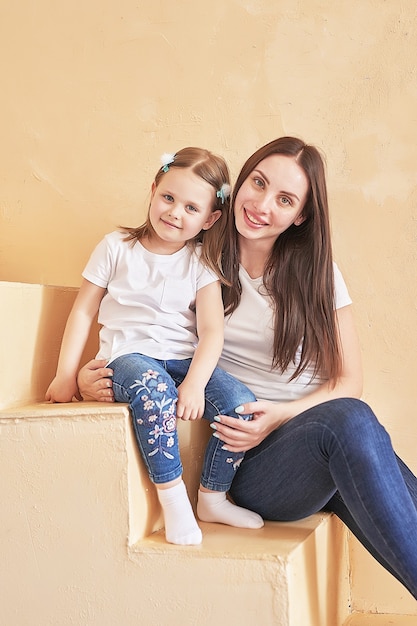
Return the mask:
[[[204,417],[215,425],[216,415],[231,415],[236,419],[251,419],[251,415],[235,412],[235,408],[246,402],[254,402],[255,396],[245,385],[220,368],[216,368],[206,386],[206,408]],[[243,461],[244,453],[233,453],[222,449],[223,442],[216,432],[208,442],[198,492],[197,514],[205,522],[218,522],[240,528],[261,528],[263,519],[253,511],[232,504],[226,492]]]

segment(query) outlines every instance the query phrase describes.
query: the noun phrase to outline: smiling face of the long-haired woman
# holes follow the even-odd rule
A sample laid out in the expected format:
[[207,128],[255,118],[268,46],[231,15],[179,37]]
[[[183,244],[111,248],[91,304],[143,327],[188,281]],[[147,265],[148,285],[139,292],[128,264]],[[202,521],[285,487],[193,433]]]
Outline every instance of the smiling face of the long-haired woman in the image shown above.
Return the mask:
[[309,192],[304,170],[293,157],[273,154],[249,174],[234,205],[239,240],[263,241],[272,247],[291,224],[304,221]]

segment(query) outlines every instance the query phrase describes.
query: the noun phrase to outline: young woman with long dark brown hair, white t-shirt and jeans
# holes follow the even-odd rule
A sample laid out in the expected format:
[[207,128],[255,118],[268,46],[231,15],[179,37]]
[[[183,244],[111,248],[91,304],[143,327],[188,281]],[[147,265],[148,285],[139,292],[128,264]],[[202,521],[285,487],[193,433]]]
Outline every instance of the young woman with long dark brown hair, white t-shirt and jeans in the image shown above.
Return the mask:
[[[213,437],[245,451],[230,489],[264,519],[326,509],[417,598],[417,479],[359,398],[362,375],[351,301],[332,260],[318,150],[283,137],[244,164],[223,243],[226,311],[219,364],[257,397],[217,416]],[[82,393],[111,400],[103,363]]]

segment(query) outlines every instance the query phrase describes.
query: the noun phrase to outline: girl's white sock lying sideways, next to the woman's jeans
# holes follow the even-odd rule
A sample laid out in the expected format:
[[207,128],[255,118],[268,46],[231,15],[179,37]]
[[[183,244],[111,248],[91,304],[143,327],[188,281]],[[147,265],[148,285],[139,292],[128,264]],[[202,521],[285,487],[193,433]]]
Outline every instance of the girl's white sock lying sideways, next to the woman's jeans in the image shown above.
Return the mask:
[[224,491],[198,490],[197,515],[202,522],[218,522],[237,528],[262,528],[264,525],[257,513],[229,502]]

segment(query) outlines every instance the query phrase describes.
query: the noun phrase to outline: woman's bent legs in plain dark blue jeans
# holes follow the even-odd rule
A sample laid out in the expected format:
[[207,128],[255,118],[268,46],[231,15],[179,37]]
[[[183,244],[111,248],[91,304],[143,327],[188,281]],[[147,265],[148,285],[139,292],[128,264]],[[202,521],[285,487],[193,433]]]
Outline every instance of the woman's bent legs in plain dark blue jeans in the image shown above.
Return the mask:
[[331,508],[417,597],[417,479],[364,402],[325,402],[281,426],[246,453],[231,493],[271,520]]

